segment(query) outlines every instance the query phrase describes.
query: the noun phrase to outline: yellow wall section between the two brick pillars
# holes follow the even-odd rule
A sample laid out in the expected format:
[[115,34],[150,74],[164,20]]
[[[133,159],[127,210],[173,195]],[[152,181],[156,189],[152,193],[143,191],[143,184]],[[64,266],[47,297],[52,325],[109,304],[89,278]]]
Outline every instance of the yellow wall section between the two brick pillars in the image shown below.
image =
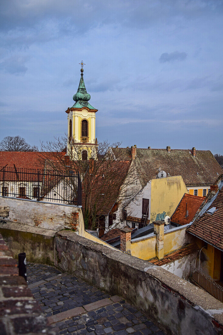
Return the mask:
[[138,242],[131,242],[132,256],[147,260],[156,257],[156,236]]

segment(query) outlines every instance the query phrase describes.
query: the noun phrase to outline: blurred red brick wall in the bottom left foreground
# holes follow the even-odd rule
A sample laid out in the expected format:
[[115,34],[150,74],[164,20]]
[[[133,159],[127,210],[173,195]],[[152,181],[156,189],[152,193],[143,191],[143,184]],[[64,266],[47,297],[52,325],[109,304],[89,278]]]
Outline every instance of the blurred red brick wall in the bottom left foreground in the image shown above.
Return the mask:
[[0,334],[56,335],[0,235]]

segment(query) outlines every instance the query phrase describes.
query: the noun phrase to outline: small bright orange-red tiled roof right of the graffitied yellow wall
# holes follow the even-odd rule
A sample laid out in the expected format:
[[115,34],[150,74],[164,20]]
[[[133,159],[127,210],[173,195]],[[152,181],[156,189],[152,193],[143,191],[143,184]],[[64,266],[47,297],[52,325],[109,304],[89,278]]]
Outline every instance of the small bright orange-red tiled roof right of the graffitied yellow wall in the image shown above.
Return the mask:
[[[175,212],[171,216],[171,222],[183,225],[190,223],[195,214],[197,213],[201,204],[205,201],[204,197],[198,197],[196,195],[185,193],[182,199],[180,200],[179,205],[177,206]],[[186,215],[186,204],[188,210],[188,217]]]

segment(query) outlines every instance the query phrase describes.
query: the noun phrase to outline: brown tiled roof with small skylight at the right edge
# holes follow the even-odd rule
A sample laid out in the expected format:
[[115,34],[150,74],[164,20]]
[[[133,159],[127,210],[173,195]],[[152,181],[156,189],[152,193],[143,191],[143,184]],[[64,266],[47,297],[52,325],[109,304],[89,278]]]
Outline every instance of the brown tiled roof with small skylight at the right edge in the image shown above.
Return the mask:
[[219,191],[209,209],[212,207],[218,208],[216,212],[209,214],[206,211],[187,228],[187,231],[223,250],[223,188]]

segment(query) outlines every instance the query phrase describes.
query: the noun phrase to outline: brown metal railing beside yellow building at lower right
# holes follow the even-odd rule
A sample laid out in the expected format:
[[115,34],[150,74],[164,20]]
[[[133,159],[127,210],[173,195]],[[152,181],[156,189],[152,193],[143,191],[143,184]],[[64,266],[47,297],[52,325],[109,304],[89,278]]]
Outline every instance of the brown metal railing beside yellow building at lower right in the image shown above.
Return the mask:
[[192,264],[190,266],[190,278],[208,293],[223,302],[223,287],[218,285],[213,279],[206,276],[199,269],[195,268]]

